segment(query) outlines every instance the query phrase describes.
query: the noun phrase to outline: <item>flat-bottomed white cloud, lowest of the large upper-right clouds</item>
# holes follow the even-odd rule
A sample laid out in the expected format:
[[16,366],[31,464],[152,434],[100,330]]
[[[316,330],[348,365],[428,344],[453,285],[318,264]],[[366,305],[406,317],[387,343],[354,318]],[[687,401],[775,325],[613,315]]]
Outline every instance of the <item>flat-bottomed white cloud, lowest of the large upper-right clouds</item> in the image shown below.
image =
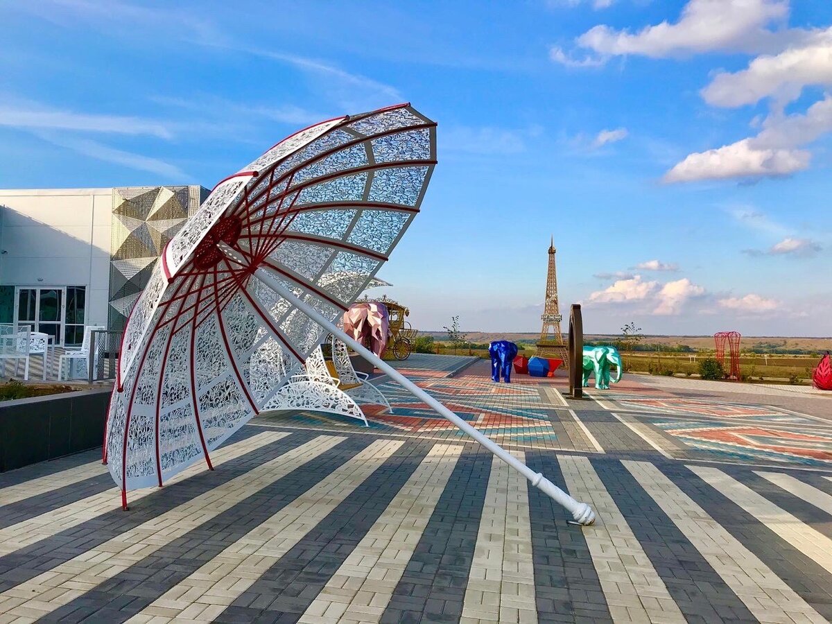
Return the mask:
[[666,182],[721,180],[744,176],[787,176],[809,166],[805,150],[760,149],[743,139],[714,150],[695,152],[676,163],[664,176]]

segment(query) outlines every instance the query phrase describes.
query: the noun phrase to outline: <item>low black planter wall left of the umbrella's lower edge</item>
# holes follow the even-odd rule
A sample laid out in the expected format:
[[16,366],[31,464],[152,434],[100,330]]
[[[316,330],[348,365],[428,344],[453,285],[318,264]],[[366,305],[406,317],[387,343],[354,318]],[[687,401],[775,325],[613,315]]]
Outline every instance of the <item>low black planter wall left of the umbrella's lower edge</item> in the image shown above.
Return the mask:
[[0,473],[104,443],[110,389],[0,402]]

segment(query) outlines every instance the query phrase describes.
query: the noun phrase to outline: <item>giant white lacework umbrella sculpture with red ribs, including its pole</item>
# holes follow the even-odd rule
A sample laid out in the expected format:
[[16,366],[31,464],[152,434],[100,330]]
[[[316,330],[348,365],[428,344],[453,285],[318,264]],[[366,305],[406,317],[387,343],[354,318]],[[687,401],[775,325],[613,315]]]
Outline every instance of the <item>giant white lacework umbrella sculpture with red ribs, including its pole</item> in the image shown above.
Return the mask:
[[127,320],[104,460],[126,493],[204,458],[334,334],[577,522],[595,515],[357,343],[334,321],[419,210],[436,124],[409,104],[324,121],[221,181],[171,239]]

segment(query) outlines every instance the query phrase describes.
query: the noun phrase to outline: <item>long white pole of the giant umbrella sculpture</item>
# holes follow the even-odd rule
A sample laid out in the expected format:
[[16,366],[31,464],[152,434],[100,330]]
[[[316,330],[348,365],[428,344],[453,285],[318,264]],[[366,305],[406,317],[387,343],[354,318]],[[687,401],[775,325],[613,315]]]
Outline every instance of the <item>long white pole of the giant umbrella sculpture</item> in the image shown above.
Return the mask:
[[493,440],[478,432],[477,429],[466,423],[462,418],[453,414],[450,409],[446,408],[436,399],[433,399],[430,394],[419,388],[418,385],[414,384],[410,381],[410,379],[399,373],[398,370],[394,369],[383,359],[376,356],[376,354],[372,351],[366,349],[363,344],[360,344],[357,340],[350,338],[349,334],[346,334],[343,330],[338,329],[334,323],[329,321],[329,319],[327,319],[323,314],[320,314],[318,310],[315,310],[305,301],[298,299],[298,297],[296,297],[291,290],[281,285],[278,280],[275,280],[274,276],[271,275],[268,270],[261,267],[255,271],[255,275],[257,275],[257,277],[262,280],[265,285],[269,286],[270,289],[275,290],[276,293],[284,297],[286,300],[290,300],[292,305],[297,306],[304,312],[304,314],[309,316],[310,319],[314,319],[315,322],[328,329],[330,333],[343,340],[344,343],[349,344],[349,346],[352,347],[356,353],[364,357],[364,359],[372,362],[378,369],[383,370],[390,379],[394,379],[396,382],[404,386],[404,388],[414,394],[417,399],[421,400],[425,404],[428,404],[445,418],[448,418],[448,420],[450,420],[458,428],[462,429],[465,433],[468,433],[468,435],[477,440],[478,443],[482,444],[498,458],[502,459],[503,462],[508,463],[509,466],[517,470],[523,477],[531,481],[533,486],[539,488],[542,493],[547,494],[547,496],[552,498],[556,503],[567,508],[567,510],[572,513],[572,518],[575,518],[576,522],[580,524],[592,524],[592,522],[595,522],[595,513],[592,511],[592,508],[587,505],[587,503],[578,503],[577,500],[569,496],[569,494],[565,493],[561,488],[558,488],[557,485],[549,481],[541,473],[535,473],[532,471],[532,469],[525,463],[522,463],[518,458],[515,458],[511,453],[508,453],[508,451],[502,448],[499,444],[494,443]]

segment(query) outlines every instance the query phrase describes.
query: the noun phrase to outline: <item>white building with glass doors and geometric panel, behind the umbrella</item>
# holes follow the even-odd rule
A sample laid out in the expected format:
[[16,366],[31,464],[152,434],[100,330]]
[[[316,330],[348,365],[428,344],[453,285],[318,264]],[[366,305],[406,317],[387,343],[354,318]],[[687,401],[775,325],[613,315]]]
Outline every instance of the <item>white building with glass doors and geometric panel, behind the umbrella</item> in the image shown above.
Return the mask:
[[123,329],[167,241],[205,199],[201,186],[0,190],[0,323],[55,344],[85,325]]

